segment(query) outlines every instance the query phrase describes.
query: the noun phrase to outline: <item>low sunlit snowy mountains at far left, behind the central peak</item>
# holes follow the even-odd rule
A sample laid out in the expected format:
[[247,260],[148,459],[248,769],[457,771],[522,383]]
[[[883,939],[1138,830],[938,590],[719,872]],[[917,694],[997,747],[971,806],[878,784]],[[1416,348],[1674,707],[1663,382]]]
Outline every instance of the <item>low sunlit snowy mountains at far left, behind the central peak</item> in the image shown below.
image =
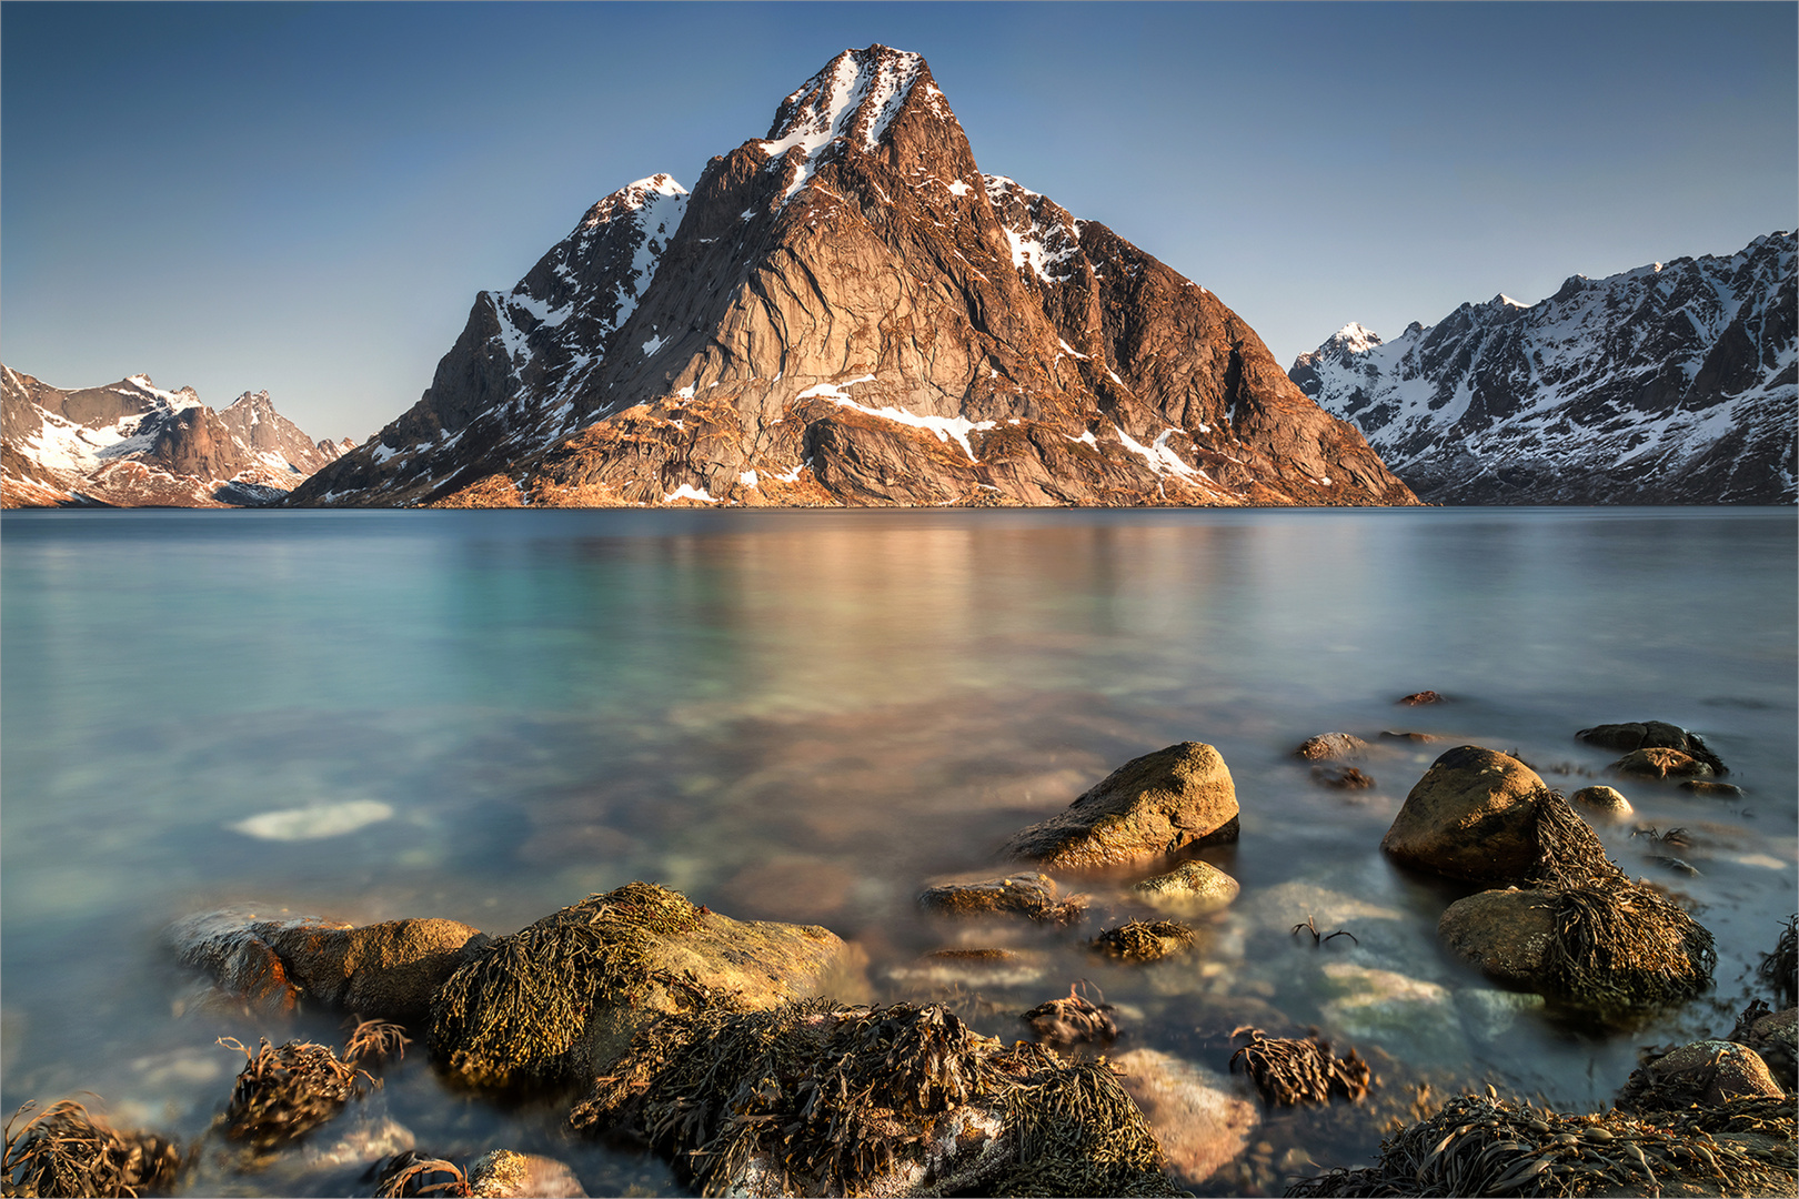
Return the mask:
[[5,507],[230,507],[279,500],[351,448],[313,442],[245,392],[223,412],[149,376],[65,390],[0,367]]

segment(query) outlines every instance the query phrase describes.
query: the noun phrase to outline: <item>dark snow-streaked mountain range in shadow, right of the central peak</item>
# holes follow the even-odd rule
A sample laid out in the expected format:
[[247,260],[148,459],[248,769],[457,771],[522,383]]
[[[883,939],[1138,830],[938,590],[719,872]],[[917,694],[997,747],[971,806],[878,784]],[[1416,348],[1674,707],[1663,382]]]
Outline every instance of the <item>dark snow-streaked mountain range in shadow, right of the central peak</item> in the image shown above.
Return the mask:
[[1574,275],[1288,372],[1432,503],[1794,503],[1794,234]]

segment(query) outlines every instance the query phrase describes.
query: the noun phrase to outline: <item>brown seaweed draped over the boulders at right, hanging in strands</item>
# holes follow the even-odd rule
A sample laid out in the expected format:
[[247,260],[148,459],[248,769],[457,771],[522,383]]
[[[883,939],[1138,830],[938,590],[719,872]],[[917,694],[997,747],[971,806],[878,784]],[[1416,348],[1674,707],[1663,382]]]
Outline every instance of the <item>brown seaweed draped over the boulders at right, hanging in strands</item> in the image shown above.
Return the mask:
[[1711,985],[1711,931],[1662,892],[1632,881],[1560,791],[1536,798],[1538,857],[1529,883],[1554,892],[1544,980],[1601,1010],[1659,1007]]

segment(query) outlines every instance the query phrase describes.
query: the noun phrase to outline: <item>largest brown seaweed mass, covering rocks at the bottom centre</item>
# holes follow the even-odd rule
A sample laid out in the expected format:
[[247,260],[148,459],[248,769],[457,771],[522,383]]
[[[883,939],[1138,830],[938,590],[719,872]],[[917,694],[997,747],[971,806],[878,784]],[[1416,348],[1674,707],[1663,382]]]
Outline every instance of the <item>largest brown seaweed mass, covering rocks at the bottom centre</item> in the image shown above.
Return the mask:
[[1178,1194],[1110,1068],[1002,1048],[939,1005],[716,998],[642,1030],[568,1120],[646,1138],[705,1195]]

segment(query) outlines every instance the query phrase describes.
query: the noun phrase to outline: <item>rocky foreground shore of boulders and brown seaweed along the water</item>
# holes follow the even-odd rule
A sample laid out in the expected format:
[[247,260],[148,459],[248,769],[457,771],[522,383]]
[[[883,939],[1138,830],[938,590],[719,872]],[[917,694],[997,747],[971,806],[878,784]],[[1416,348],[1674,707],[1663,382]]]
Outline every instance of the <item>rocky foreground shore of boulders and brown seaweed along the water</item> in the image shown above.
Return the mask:
[[[1608,773],[1628,787],[1677,793],[1727,773],[1671,724],[1574,737],[1621,753]],[[1319,786],[1355,791],[1342,780],[1403,760],[1383,746],[1425,739],[1331,732],[1293,753]],[[1247,834],[1231,769],[1196,741],[1124,762],[1020,829],[995,874],[919,879],[919,919],[943,946],[878,978],[864,947],[831,929],[738,920],[653,883],[507,935],[446,919],[196,913],[166,944],[207,983],[198,1010],[272,1034],[255,1046],[219,1039],[241,1068],[212,1127],[182,1145],[81,1102],[27,1104],[7,1125],[0,1181],[7,1195],[255,1194],[358,1167],[358,1194],[374,1195],[595,1186],[541,1145],[421,1145],[392,1118],[358,1116],[410,1046],[459,1102],[547,1104],[563,1113],[567,1145],[637,1145],[709,1195],[1268,1194],[1283,1177],[1293,1195],[1792,1194],[1799,965],[1786,913],[1768,913],[1772,953],[1736,1025],[1646,1050],[1605,1111],[1553,1111],[1472,1080],[1434,1093],[1394,1052],[1428,1059],[1434,1037],[1497,1037],[1545,1014],[1630,1026],[1713,989],[1702,913],[1632,879],[1596,832],[1632,811],[1610,786],[1563,796],[1515,753],[1437,753],[1380,850],[1439,881],[1448,969],[1486,980],[1454,1001],[1405,974],[1382,922],[1329,881],[1256,892],[1220,866]],[[1293,913],[1304,919],[1277,924]],[[1153,981],[1169,969],[1204,976],[1218,938],[1245,926],[1320,955],[1308,969],[1333,989],[1324,1012],[1358,1044],[1245,1001],[1195,1003],[1191,1055],[1133,1044],[1142,1012],[1056,974],[1065,958],[1031,944],[1078,949],[1096,976]],[[986,989],[1043,998],[1006,1008]],[[907,998],[874,1001],[894,994]],[[342,1048],[281,1039],[295,1012],[345,1016]],[[1006,1035],[977,1028],[995,1019],[1009,1021]],[[1207,1059],[1202,1044],[1229,1057]],[[1322,1168],[1302,1145],[1274,1161],[1266,1129],[1295,1111],[1385,1118],[1378,1149],[1373,1138],[1362,1149],[1373,1165]]]

